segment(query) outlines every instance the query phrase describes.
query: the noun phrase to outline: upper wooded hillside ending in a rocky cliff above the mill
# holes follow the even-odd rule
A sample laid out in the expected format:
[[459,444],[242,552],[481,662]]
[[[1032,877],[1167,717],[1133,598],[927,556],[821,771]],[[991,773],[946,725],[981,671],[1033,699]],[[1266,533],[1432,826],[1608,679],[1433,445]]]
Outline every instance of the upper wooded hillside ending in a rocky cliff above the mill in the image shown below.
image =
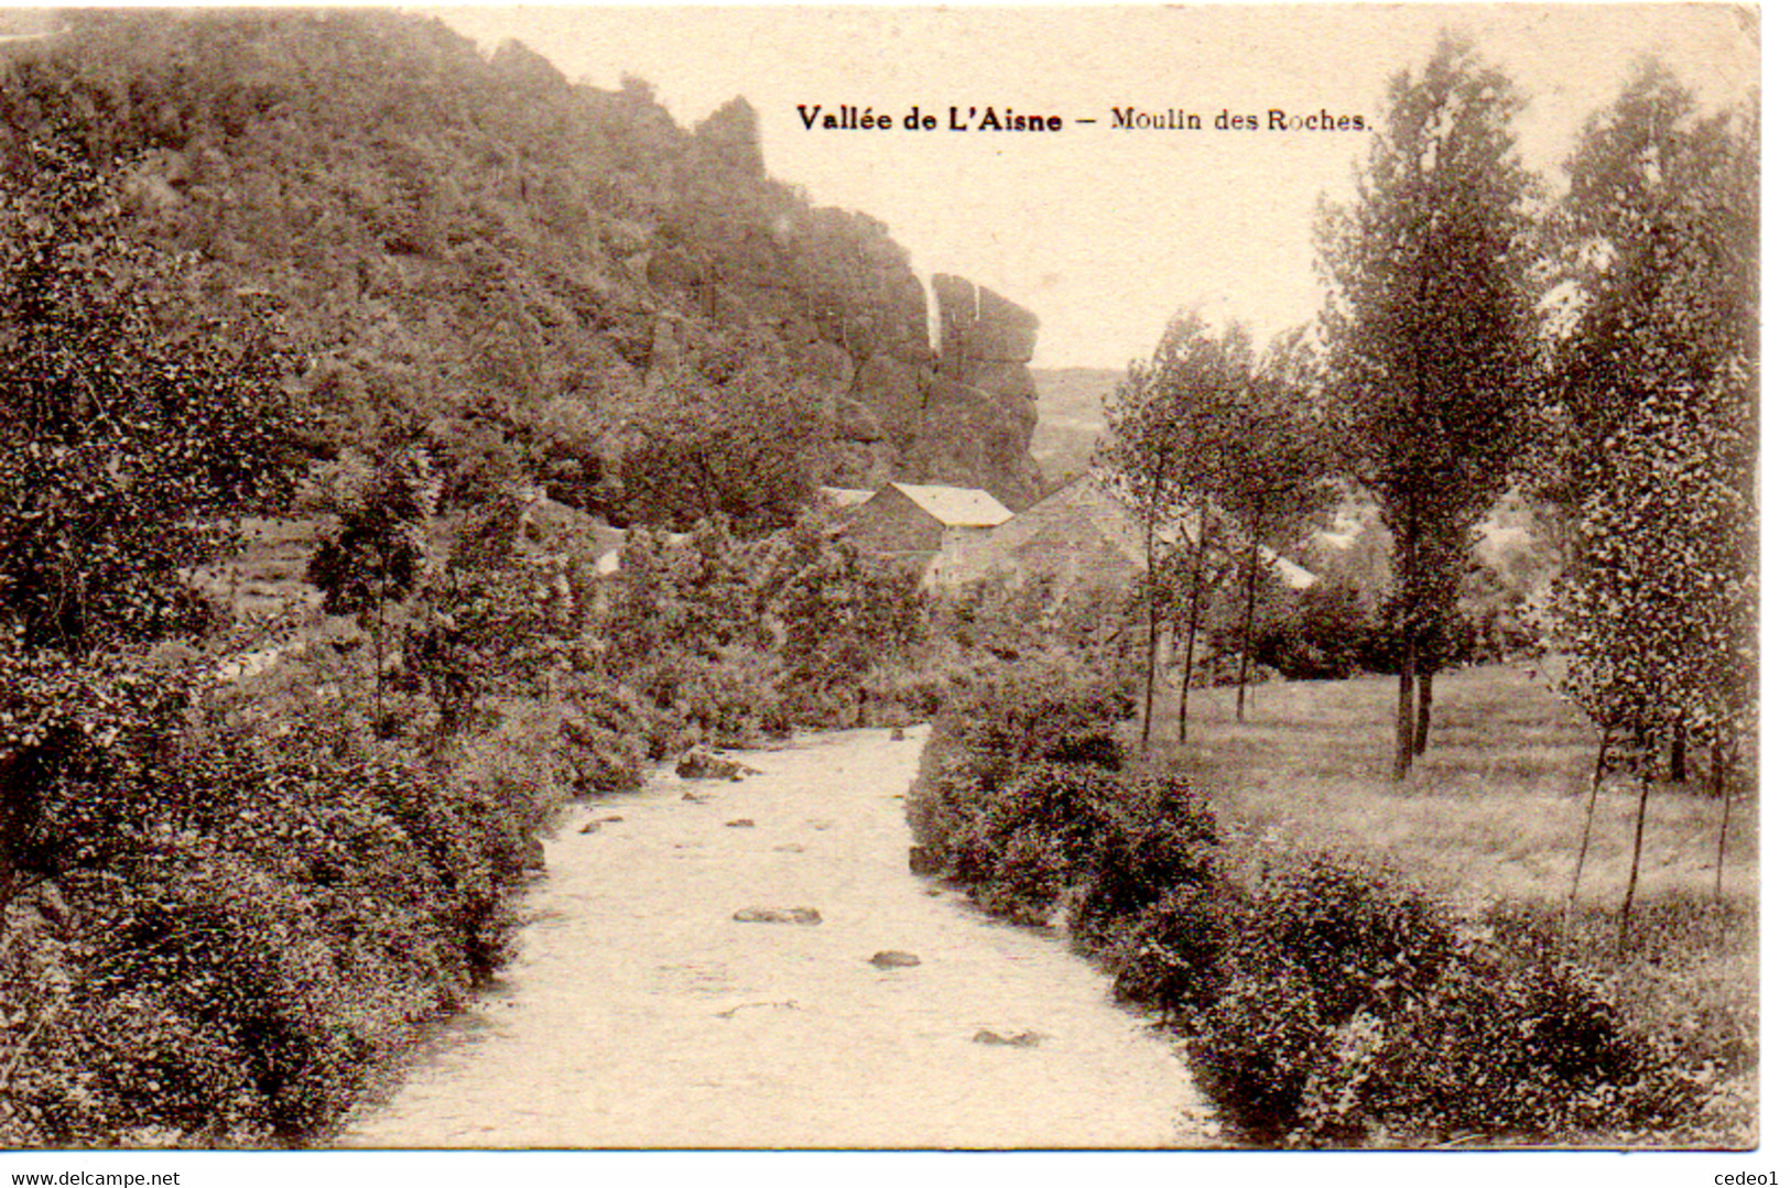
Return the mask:
[[1036,318],[934,277],[934,345],[908,254],[766,177],[743,98],[686,131],[643,82],[390,13],[70,14],[0,54],[0,147],[124,161],[131,234],[277,306],[319,449],[421,438],[610,513],[628,417],[750,363],[822,481],[1038,494]]

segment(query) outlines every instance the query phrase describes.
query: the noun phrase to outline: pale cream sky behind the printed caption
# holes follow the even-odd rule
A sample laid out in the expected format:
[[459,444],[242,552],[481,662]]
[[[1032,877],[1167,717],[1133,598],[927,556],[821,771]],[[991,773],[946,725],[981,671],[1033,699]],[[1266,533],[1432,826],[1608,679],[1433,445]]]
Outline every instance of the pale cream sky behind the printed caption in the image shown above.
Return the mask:
[[[644,79],[686,127],[745,95],[773,177],[875,216],[922,276],[965,276],[1029,308],[1040,367],[1122,367],[1183,308],[1257,336],[1312,317],[1312,215],[1321,195],[1351,193],[1371,131],[1269,129],[1267,113],[1371,129],[1387,79],[1421,66],[1445,29],[1529,98],[1520,148],[1556,186],[1640,55],[1709,107],[1760,79],[1758,20],[1727,5],[426,11],[487,50],[516,38],[573,81]],[[804,106],[888,113],[895,127],[807,127]],[[952,106],[959,123],[993,107],[1065,129],[954,132]],[[940,127],[904,131],[913,107]],[[1201,127],[1115,129],[1115,107]],[[1221,131],[1221,113],[1258,127]]]

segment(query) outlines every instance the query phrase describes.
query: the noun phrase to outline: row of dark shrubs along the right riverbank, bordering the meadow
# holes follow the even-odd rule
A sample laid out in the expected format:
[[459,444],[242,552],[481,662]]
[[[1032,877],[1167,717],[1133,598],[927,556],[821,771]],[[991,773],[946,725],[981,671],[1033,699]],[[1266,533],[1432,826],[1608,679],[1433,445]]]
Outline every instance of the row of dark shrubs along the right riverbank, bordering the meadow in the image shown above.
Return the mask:
[[1201,789],[1128,766],[1128,714],[1067,657],[963,691],[909,798],[916,859],[997,916],[1061,918],[1187,1038],[1237,1141],[1736,1141],[1724,1070],[1638,1025],[1606,970],[1396,871],[1246,850]]

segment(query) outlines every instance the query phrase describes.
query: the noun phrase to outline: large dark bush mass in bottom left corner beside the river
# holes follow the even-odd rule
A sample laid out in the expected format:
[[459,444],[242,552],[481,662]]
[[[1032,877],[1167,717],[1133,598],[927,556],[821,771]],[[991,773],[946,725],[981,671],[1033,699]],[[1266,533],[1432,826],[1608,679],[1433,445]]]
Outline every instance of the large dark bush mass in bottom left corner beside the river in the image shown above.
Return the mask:
[[39,959],[0,954],[0,1020],[29,1022],[0,1136],[304,1141],[505,959],[550,805],[528,771],[424,762],[342,705],[245,721],[127,676],[39,705],[9,755],[34,796],[5,859],[38,884],[7,916],[36,909]]

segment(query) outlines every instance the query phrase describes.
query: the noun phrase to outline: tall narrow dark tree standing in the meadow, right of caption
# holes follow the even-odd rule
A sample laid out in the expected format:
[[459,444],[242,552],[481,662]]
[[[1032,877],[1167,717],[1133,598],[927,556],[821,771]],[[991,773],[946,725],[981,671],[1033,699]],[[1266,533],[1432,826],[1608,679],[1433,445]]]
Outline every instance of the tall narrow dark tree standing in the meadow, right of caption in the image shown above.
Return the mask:
[[1319,218],[1328,412],[1394,544],[1396,778],[1423,742],[1414,694],[1471,528],[1530,435],[1538,188],[1509,131],[1518,106],[1509,79],[1445,38],[1423,73],[1393,79],[1353,204]]

